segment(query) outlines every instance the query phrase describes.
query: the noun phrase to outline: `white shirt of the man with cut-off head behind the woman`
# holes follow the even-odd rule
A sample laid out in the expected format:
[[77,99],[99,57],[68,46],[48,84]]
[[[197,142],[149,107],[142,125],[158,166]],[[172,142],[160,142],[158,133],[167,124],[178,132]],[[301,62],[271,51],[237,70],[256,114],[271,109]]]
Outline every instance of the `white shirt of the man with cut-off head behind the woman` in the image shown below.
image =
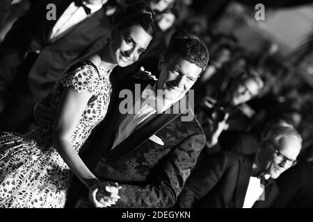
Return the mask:
[[[83,4],[90,8],[90,15],[102,8],[102,4],[91,5],[85,2],[83,2]],[[65,31],[67,31],[67,29],[83,21],[83,19],[86,19],[90,15],[86,14],[83,7],[75,6],[75,3],[73,1],[58,19],[58,21],[54,25],[54,28],[52,28],[50,40],[53,40],[58,35],[64,33]]]

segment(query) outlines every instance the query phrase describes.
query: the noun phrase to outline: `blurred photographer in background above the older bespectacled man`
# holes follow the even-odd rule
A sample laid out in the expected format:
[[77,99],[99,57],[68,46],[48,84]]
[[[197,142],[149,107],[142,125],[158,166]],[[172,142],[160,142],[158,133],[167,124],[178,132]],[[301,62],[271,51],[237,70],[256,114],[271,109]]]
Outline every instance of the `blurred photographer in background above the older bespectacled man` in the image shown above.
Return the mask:
[[[207,135],[208,148],[218,143],[218,137],[223,130],[246,130],[247,120],[242,118],[250,119],[254,111],[245,103],[257,96],[263,85],[262,79],[255,71],[246,71],[241,73],[238,79],[234,79],[224,92],[218,91],[209,95],[204,91],[195,114]],[[233,134],[234,132],[230,133]],[[223,140],[227,141],[228,139]],[[224,144],[224,147],[227,145]]]

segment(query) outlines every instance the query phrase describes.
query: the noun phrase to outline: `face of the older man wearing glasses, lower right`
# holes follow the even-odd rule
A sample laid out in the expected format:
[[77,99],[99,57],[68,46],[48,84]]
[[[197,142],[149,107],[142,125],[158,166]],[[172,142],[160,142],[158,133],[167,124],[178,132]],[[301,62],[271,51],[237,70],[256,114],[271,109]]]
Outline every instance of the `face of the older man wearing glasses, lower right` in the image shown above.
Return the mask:
[[259,164],[271,178],[276,179],[289,169],[300,153],[301,142],[298,137],[284,137],[280,146],[266,142],[259,151]]

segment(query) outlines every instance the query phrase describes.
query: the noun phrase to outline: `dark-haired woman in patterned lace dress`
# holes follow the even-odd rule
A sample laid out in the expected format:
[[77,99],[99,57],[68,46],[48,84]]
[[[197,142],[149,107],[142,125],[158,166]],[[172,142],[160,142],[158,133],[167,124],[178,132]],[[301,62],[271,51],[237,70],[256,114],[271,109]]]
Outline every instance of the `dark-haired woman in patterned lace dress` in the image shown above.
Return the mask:
[[53,124],[26,135],[0,133],[0,207],[64,207],[72,172],[95,201],[99,180],[79,149],[106,115],[111,70],[138,60],[154,36],[152,11],[143,3],[118,12],[113,24],[104,49],[71,65],[40,101],[51,108]]

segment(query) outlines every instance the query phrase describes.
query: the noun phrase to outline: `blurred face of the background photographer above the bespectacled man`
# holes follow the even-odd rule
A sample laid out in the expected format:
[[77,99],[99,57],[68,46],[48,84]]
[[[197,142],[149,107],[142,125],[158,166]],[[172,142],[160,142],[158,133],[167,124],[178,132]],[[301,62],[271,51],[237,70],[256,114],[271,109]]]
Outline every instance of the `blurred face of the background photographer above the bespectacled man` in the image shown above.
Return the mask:
[[257,96],[259,92],[259,85],[253,79],[244,80],[242,83],[239,83],[230,91],[232,94],[232,105],[236,106],[242,103],[246,103],[253,96]]

